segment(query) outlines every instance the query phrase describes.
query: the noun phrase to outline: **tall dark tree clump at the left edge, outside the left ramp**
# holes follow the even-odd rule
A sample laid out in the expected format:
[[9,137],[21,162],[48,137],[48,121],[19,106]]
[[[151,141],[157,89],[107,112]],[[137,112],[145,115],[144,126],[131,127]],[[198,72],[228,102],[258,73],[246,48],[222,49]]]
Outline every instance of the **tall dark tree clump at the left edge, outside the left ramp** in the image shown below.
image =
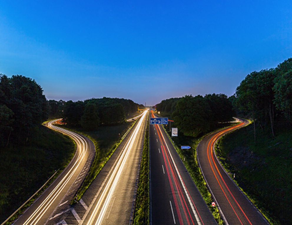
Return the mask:
[[35,80],[0,75],[0,144],[27,142],[36,125],[48,117],[48,104]]

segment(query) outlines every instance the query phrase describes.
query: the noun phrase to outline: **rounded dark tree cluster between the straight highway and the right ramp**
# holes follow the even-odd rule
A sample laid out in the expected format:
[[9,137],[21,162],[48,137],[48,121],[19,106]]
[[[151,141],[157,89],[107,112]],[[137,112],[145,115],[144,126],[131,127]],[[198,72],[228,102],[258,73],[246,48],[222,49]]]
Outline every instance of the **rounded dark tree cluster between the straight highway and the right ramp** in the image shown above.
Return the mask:
[[217,128],[218,122],[229,121],[234,116],[232,104],[224,94],[171,98],[157,104],[156,109],[162,115],[170,115],[184,135],[193,137]]

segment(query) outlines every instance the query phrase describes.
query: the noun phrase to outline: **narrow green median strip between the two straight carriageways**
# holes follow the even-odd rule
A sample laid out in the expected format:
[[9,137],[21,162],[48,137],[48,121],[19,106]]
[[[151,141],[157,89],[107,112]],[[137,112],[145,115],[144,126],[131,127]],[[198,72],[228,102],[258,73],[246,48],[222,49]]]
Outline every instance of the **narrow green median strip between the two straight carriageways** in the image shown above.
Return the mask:
[[149,224],[149,130],[148,119],[144,137],[139,183],[133,224]]

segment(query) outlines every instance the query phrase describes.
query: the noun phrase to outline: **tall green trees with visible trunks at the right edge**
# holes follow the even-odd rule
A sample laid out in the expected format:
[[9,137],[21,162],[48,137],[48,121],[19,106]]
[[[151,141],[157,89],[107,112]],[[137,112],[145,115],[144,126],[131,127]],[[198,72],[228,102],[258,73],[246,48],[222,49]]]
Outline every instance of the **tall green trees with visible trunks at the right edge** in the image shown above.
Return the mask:
[[292,58],[275,69],[248,74],[236,89],[234,104],[244,115],[250,116],[255,127],[269,125],[275,136],[275,120],[283,117],[292,124]]

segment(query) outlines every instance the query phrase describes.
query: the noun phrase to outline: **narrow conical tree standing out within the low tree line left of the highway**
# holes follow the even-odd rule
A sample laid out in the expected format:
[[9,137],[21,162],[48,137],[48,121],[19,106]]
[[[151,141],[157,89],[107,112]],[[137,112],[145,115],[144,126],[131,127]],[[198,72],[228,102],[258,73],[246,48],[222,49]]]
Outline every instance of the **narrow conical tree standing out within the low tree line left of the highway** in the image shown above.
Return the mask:
[[87,104],[81,117],[81,126],[85,130],[96,130],[99,125],[97,107],[94,104]]

